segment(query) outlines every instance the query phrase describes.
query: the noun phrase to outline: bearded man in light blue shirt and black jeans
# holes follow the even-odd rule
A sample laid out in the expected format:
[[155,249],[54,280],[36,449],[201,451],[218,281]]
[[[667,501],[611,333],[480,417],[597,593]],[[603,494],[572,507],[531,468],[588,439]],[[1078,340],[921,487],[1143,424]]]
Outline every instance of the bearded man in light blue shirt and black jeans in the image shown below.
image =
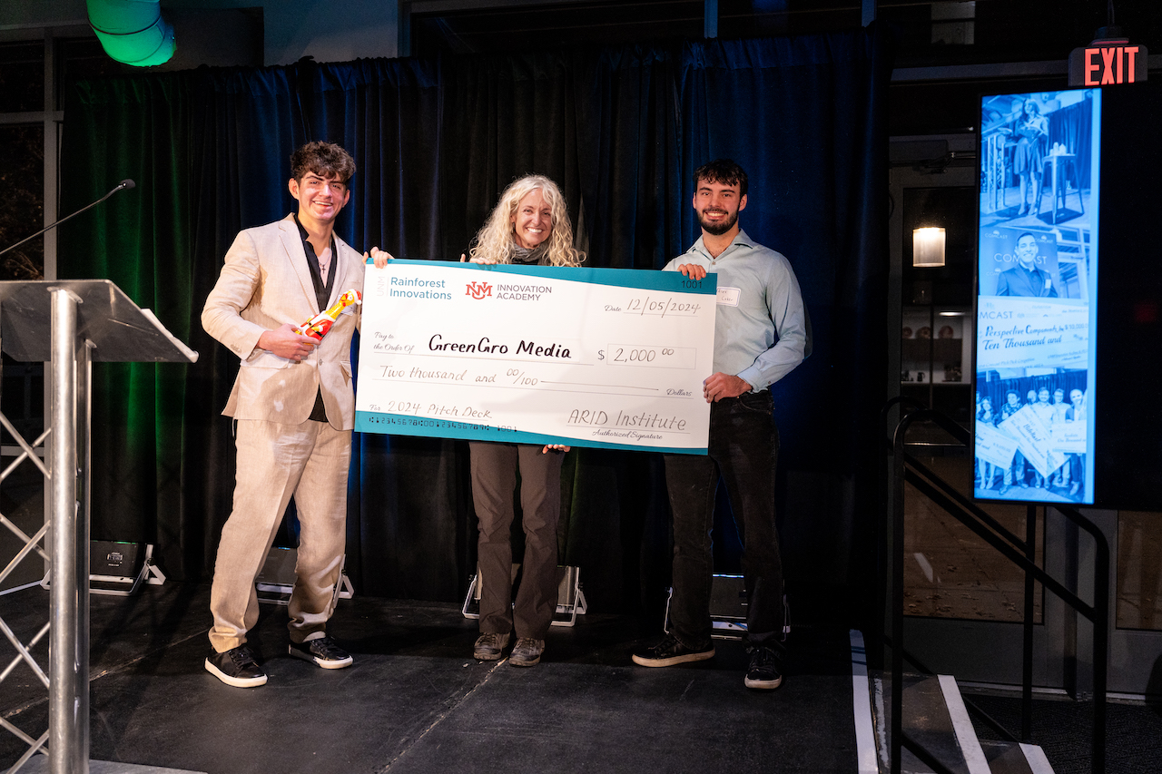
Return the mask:
[[673,666],[715,654],[710,639],[713,572],[710,530],[719,476],[743,540],[747,593],[748,688],[777,688],[783,637],[783,572],[775,529],[779,431],[768,387],[809,352],[809,324],[786,257],[739,228],[747,178],[718,159],[694,173],[694,209],[702,225],[686,255],[666,265],[691,279],[718,274],[713,373],[703,382],[710,406],[709,454],[666,456],[674,514],[674,592],[669,633],[633,653],[641,666]]

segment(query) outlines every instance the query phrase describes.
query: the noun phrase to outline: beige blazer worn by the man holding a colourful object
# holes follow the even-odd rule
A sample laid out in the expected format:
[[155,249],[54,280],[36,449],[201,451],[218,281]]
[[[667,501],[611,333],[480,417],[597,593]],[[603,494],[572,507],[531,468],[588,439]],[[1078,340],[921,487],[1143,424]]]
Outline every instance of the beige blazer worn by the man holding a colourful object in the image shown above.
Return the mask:
[[[335,237],[338,259],[328,307],[345,291],[363,293],[364,258]],[[258,347],[258,337],[284,323],[299,325],[321,309],[294,217],[242,231],[225,253],[217,284],[206,299],[202,328],[242,359],[223,414],[236,420],[300,424],[322,389],[327,420],[354,427],[351,335],[359,307],[349,307],[302,363]]]

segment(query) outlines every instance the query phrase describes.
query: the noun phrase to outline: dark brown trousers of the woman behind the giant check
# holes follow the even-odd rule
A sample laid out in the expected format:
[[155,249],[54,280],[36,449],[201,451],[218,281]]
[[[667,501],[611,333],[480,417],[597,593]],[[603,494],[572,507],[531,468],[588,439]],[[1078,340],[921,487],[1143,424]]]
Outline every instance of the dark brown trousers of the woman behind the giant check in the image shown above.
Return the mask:
[[[472,442],[472,500],[480,519],[480,631],[544,639],[557,610],[557,522],[561,515],[561,461],[544,446]],[[521,470],[524,562],[512,608],[512,493]]]

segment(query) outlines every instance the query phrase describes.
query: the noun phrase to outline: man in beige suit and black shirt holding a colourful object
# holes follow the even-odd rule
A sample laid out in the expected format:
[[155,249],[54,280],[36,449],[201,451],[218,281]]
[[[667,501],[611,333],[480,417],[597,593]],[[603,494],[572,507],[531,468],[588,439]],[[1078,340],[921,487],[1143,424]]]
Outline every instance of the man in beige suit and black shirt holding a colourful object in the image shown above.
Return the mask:
[[237,479],[214,569],[206,659],[208,672],[239,688],[266,682],[246,632],[258,619],[254,578],[292,495],[301,529],[290,655],[329,669],[352,660],[325,628],[344,556],[359,314],[350,307],[321,342],[294,328],[345,291],[363,293],[364,259],[333,234],[356,166],[345,150],[321,142],[296,150],[290,166],[299,212],[237,236],[202,309],[206,331],[242,359],[222,411],[237,423]]

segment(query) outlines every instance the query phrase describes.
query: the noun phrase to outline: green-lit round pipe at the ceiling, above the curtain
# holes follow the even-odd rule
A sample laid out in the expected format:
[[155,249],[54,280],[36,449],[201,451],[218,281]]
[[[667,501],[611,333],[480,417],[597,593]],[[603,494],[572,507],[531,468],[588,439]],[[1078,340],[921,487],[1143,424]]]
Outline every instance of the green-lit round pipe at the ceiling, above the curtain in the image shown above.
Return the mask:
[[160,0],[87,0],[88,23],[105,52],[135,67],[165,64],[177,48]]

